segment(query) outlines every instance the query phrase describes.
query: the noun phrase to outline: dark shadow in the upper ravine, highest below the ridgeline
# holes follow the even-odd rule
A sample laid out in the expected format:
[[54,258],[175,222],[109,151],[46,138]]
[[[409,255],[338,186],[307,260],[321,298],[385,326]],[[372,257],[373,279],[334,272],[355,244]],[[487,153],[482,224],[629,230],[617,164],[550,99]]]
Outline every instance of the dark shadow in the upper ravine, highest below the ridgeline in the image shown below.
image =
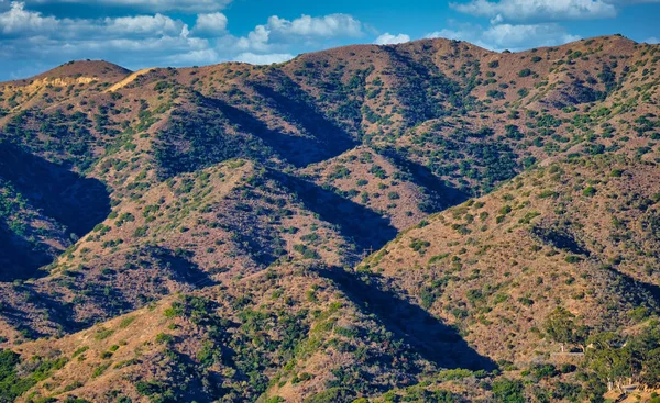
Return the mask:
[[319,148],[308,156],[307,165],[336,157],[358,145],[349,133],[305,102],[307,94],[298,85],[290,80],[286,85],[287,94],[258,83],[254,83],[253,88],[272,101],[288,122],[302,126],[318,142]]

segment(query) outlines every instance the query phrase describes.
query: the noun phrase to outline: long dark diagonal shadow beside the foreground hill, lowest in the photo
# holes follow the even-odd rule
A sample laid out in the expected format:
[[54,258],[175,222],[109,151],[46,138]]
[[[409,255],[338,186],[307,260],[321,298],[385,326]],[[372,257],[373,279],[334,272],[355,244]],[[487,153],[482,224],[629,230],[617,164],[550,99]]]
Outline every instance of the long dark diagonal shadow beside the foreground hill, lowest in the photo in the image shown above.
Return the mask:
[[497,368],[490,358],[471,348],[453,327],[420,306],[382,290],[376,281],[365,281],[359,275],[341,268],[316,271],[332,280],[362,311],[376,315],[387,331],[438,367],[471,370]]

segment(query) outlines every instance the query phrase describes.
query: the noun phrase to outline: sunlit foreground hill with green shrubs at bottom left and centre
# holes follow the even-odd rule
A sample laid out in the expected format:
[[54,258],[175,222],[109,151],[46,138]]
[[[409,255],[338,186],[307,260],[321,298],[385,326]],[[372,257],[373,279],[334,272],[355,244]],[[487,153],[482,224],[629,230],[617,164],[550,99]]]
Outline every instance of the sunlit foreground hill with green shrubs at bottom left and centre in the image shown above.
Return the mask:
[[135,388],[148,382],[175,399],[239,402],[258,398],[271,380],[276,387],[264,398],[299,402],[333,383],[369,395],[416,383],[436,368],[402,343],[403,333],[391,333],[305,266],[228,286],[16,347],[24,360],[67,359],[26,395],[140,401]]

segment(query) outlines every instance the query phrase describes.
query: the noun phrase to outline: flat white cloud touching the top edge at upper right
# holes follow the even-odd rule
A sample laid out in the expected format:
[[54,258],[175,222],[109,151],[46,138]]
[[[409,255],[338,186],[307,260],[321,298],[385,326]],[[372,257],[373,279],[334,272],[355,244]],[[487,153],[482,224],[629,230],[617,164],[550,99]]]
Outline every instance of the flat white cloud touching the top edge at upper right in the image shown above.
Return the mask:
[[450,5],[466,14],[491,18],[494,23],[597,19],[617,14],[616,7],[604,0],[472,0]]

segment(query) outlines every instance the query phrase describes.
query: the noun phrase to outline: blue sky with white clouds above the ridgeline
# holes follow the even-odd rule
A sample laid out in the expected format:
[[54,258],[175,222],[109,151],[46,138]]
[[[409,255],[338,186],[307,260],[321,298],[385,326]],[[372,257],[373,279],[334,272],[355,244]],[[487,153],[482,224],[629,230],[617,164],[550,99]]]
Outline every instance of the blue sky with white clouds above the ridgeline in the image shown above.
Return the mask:
[[658,43],[660,0],[0,0],[0,80],[74,59],[130,69],[268,64],[449,37],[519,51],[620,33]]

